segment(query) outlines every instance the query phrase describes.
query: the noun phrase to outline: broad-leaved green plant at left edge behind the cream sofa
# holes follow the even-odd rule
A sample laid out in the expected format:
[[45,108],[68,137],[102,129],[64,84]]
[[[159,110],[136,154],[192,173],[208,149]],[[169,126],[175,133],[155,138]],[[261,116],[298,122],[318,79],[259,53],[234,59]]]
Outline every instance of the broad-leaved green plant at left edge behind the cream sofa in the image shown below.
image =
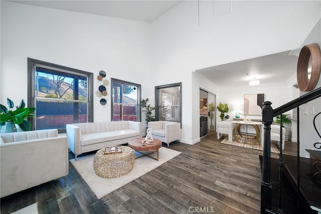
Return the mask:
[[27,118],[35,116],[33,112],[36,110],[36,108],[25,107],[26,103],[23,99],[21,100],[20,105],[16,106],[16,110],[11,110],[15,106],[14,102],[11,99],[7,98],[7,104],[8,108],[0,104],[1,125],[5,125],[6,122],[14,122],[15,124],[18,124],[23,131],[29,131],[31,129],[31,123],[27,120]]

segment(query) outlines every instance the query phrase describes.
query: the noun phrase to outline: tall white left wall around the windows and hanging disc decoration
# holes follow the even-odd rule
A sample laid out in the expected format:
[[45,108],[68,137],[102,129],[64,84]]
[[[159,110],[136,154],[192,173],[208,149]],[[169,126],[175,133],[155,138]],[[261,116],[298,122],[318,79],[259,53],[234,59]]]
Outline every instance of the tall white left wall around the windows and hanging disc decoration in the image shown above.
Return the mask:
[[[142,97],[153,97],[146,90],[149,32],[150,24],[144,22],[1,1],[0,101],[27,102],[28,57],[94,73],[94,86],[104,70],[107,79],[141,84]],[[110,121],[110,108],[110,97],[102,106],[94,96],[94,121]]]

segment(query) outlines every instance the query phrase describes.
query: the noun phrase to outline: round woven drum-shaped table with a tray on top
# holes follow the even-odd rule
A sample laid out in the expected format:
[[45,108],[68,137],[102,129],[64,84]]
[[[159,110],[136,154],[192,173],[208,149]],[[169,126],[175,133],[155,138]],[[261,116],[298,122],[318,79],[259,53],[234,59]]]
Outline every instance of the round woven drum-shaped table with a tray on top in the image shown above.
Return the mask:
[[129,173],[134,167],[134,152],[127,146],[121,146],[122,152],[104,154],[105,148],[99,149],[93,165],[96,174],[103,178],[115,178]]

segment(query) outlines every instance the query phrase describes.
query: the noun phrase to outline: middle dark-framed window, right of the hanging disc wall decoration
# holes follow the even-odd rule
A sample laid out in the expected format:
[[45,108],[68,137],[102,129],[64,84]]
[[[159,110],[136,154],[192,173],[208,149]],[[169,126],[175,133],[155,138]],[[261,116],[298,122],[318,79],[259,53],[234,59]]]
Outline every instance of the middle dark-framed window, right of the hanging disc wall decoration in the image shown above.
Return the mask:
[[140,85],[111,78],[111,120],[141,121]]

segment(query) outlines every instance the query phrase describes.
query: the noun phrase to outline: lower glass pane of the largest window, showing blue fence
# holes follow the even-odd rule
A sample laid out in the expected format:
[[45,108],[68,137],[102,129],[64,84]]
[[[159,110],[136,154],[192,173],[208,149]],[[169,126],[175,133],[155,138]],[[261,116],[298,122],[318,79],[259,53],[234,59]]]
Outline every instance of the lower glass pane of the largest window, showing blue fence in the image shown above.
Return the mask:
[[37,100],[37,129],[66,128],[66,124],[87,122],[87,103]]

